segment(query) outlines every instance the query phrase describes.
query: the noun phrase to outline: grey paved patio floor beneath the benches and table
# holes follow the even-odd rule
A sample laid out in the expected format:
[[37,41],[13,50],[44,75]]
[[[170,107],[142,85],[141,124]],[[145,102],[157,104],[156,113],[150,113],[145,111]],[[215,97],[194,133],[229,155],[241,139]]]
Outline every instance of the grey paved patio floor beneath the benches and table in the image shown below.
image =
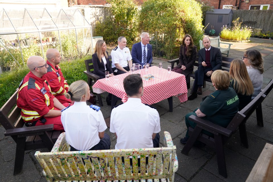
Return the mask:
[[[273,40],[259,38],[251,38],[250,40],[251,42],[247,43],[231,42],[233,45],[231,46],[229,57],[242,58],[243,53],[249,49],[257,49],[260,51],[264,58],[264,88],[273,78]],[[158,66],[159,61],[163,61],[163,68],[166,69],[168,65],[167,60],[154,57],[153,62],[155,66]],[[192,85],[193,79],[191,80],[191,86]],[[202,96],[206,96],[214,91],[214,87],[211,83],[207,83],[207,86],[203,91]],[[107,94],[104,93],[103,96],[106,98]],[[257,126],[255,112],[246,123],[249,148],[246,149],[240,145],[239,131],[237,131],[225,145],[228,172],[227,179],[218,174],[216,155],[212,148],[208,146],[202,149],[193,147],[188,156],[181,154],[184,145],[182,145],[179,140],[185,136],[187,129],[185,125],[185,114],[193,111],[200,105],[202,96],[198,96],[197,99],[184,103],[180,103],[178,98],[174,97],[172,113],[168,111],[169,106],[167,100],[153,104],[160,115],[161,144],[163,141],[163,131],[168,131],[172,136],[173,143],[177,147],[179,168],[175,174],[175,181],[245,181],[266,142],[273,143],[272,92],[262,103],[264,127]],[[101,108],[101,111],[107,124],[109,124],[111,108],[110,106],[107,106],[104,98],[104,106]],[[34,150],[26,151],[23,173],[13,176],[16,144],[11,137],[5,137],[4,132],[5,129],[0,126],[0,181],[46,181],[42,176],[42,169],[34,157]],[[115,136],[109,132],[109,129],[106,130],[106,133],[111,136],[111,148],[114,148],[116,143]],[[47,149],[42,149],[40,151],[48,152]]]

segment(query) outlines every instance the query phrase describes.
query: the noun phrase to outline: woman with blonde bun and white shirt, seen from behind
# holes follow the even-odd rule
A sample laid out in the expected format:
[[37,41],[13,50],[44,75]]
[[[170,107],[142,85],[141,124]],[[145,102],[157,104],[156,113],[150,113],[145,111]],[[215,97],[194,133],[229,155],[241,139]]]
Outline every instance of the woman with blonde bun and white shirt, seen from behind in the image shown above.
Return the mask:
[[110,149],[111,141],[104,133],[107,126],[100,107],[86,105],[86,100],[90,98],[89,89],[85,81],[78,80],[69,86],[65,94],[66,98],[75,101],[73,106],[63,109],[61,115],[70,151]]

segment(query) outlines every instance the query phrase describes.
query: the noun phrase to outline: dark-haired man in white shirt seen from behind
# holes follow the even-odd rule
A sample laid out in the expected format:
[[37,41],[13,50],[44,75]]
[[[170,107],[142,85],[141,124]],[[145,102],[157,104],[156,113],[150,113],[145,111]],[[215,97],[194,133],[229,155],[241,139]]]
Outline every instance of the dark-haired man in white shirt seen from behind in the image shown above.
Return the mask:
[[128,101],[111,112],[110,132],[115,133],[115,149],[159,147],[160,117],[155,107],[141,103],[143,82],[139,74],[123,80]]

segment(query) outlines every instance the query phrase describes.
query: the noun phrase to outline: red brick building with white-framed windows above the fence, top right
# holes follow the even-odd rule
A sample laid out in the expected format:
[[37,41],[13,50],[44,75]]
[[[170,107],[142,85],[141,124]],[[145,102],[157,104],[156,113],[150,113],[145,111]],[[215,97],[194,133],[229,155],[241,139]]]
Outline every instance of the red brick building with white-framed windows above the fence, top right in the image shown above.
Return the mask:
[[272,0],[211,0],[214,9],[273,9]]

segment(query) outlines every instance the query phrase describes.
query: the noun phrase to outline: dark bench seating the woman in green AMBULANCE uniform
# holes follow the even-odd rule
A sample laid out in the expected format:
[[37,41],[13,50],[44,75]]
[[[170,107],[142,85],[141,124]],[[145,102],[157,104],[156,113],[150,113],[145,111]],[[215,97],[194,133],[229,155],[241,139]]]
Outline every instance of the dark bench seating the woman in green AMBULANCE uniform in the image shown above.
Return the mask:
[[[247,106],[245,106],[241,111],[238,111],[236,113],[236,115],[233,117],[228,127],[226,128],[199,118],[197,116],[191,115],[189,117],[190,121],[197,123],[197,125],[194,129],[192,127],[189,127],[190,138],[181,152],[187,155],[196,140],[199,140],[207,144],[208,146],[215,148],[219,174],[226,178],[227,170],[224,154],[224,144],[228,141],[229,137],[236,131],[237,127],[239,127],[241,145],[243,145],[245,148],[248,148],[245,123],[249,116],[256,109],[257,125],[263,126],[261,104],[264,98],[272,90],[272,88],[273,80],[271,80],[268,85],[260,92],[260,94],[258,94],[258,96],[256,96]],[[213,137],[201,133],[202,129],[212,133]]]

